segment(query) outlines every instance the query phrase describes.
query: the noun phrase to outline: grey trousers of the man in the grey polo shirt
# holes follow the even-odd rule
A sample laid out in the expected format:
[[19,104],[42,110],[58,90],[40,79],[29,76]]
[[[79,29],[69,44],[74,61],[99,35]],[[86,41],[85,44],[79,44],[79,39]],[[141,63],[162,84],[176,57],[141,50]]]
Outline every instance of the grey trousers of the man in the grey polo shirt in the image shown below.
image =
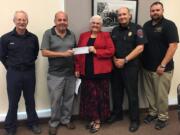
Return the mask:
[[70,122],[75,92],[75,77],[48,74],[47,84],[51,101],[50,127]]

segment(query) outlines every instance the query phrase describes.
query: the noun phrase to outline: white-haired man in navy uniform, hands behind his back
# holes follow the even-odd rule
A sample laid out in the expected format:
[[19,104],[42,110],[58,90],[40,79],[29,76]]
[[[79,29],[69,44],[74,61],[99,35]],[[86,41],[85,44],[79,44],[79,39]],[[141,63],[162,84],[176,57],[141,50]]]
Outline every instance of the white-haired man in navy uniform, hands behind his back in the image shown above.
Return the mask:
[[39,43],[36,35],[27,31],[28,16],[16,11],[15,28],[3,35],[0,41],[0,60],[7,70],[7,95],[9,101],[5,129],[8,135],[15,135],[18,102],[23,91],[26,104],[27,124],[34,133],[41,133],[35,111],[35,60]]

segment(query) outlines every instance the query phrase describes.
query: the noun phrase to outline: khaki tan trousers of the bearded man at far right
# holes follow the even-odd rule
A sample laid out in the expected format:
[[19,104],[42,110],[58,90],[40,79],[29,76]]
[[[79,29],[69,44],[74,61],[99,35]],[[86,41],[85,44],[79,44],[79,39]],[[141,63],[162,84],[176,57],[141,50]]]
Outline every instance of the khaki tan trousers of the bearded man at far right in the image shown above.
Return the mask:
[[158,115],[158,119],[168,119],[168,94],[171,87],[173,71],[159,76],[156,72],[143,69],[143,86],[149,103],[149,114]]

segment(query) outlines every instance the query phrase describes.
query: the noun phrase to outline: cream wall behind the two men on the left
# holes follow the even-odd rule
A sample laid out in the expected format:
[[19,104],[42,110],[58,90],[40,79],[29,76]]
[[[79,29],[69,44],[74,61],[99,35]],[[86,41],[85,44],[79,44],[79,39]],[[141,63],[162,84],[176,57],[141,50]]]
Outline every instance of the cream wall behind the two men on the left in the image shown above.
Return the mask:
[[[41,43],[44,31],[54,25],[54,14],[64,10],[64,0],[1,0],[0,36],[14,28],[13,15],[16,10],[24,10],[29,15],[28,30],[39,37]],[[47,59],[39,53],[37,65],[36,108],[40,117],[49,116],[49,97],[46,87]],[[0,121],[3,121],[8,109],[6,92],[6,70],[0,64]],[[19,103],[19,119],[25,117],[24,100]]]

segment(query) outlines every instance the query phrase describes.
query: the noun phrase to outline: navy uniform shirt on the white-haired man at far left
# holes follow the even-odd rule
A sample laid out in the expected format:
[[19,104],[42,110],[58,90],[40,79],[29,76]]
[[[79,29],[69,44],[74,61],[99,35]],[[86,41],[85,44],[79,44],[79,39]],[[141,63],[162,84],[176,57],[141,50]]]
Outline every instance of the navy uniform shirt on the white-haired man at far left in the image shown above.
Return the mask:
[[0,60],[6,68],[34,67],[38,51],[38,38],[28,31],[18,35],[14,29],[1,37]]

